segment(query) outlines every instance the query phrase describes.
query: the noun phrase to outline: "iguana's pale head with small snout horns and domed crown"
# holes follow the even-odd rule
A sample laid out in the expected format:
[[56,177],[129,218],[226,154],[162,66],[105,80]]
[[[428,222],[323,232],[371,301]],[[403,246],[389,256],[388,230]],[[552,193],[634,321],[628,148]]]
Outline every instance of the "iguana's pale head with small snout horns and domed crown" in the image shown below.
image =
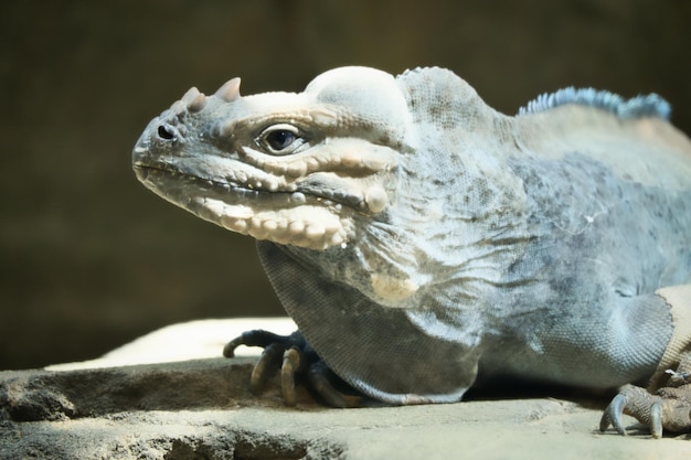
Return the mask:
[[146,128],[138,179],[227,229],[281,245],[347,245],[384,218],[406,149],[406,99],[380,71],[344,67],[304,93],[240,95],[240,79],[191,88]]

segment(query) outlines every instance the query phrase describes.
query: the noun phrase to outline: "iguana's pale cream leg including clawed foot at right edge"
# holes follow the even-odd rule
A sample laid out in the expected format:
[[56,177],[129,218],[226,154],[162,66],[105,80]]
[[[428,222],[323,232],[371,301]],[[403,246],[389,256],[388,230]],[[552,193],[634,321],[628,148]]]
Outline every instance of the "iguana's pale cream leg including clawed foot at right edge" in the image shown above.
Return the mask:
[[662,430],[691,431],[691,285],[659,289],[656,295],[670,309],[672,338],[649,391],[637,386],[624,388],[605,409],[600,431],[614,426],[620,435],[626,435],[623,414],[649,426],[653,438],[662,437]]

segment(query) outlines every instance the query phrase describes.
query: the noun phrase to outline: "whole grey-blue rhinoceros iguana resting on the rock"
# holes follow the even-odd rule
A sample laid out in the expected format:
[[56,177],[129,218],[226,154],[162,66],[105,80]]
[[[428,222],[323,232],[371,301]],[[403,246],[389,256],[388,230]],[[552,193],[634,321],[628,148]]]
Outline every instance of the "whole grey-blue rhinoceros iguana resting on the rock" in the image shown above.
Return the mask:
[[[304,93],[196,88],[134,168],[166,200],[258,239],[299,332],[265,346],[348,405],[331,370],[389,404],[476,382],[623,391],[603,416],[691,428],[691,142],[659,96],[567,88],[518,116],[454,73],[337,68]],[[674,371],[676,370],[676,371]]]

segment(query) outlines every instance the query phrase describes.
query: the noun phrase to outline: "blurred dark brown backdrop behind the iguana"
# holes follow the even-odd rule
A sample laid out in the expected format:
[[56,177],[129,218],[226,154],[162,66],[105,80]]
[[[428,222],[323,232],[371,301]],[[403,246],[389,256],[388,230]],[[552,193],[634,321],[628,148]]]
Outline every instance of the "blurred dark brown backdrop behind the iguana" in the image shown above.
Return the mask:
[[95,357],[190,319],[281,313],[251,238],[131,172],[146,124],[190,86],[300,90],[340,65],[439,65],[509,114],[567,85],[657,92],[689,133],[689,24],[688,0],[4,1],[0,368]]

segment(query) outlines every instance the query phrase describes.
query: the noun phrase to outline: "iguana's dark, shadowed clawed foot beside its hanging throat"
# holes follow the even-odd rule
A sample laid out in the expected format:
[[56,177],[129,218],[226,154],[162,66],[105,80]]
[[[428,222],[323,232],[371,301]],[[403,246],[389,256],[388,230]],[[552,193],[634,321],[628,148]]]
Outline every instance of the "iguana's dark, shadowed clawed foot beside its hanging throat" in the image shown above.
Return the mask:
[[249,379],[249,389],[255,395],[262,393],[273,371],[280,368],[283,398],[288,406],[297,404],[295,385],[300,377],[306,377],[309,387],[330,406],[358,407],[361,405],[361,396],[353,396],[337,389],[337,386],[339,388],[344,386],[352,391],[321,361],[298,331],[290,335],[278,335],[264,330],[247,331],[230,341],[223,347],[223,355],[233,357],[235,349],[240,345],[264,349]]

